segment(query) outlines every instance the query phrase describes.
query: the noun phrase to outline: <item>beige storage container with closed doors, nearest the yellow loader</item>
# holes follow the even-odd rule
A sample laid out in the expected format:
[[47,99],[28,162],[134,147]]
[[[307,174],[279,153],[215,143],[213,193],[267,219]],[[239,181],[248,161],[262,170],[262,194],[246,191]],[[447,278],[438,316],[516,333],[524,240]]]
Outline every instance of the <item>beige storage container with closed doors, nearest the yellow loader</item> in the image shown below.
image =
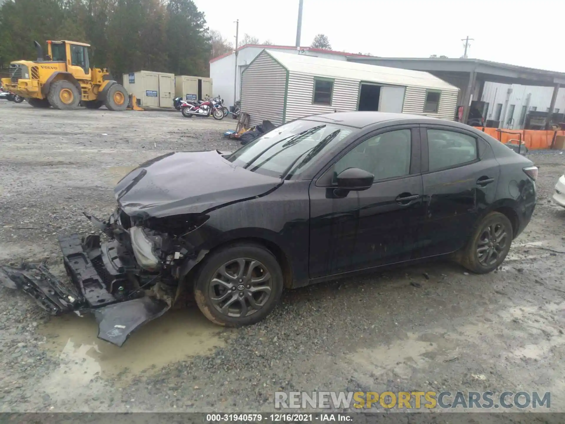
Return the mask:
[[175,74],[137,71],[124,73],[124,88],[142,107],[173,107]]

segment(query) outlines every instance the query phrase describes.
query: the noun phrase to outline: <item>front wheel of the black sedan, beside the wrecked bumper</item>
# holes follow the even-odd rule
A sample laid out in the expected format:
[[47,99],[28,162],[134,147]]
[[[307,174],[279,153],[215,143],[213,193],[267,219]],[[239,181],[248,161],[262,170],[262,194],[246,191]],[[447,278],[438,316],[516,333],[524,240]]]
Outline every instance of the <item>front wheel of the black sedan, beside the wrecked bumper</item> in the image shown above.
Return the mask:
[[[220,274],[222,267],[224,273]],[[261,278],[265,280],[260,282]],[[212,283],[218,279],[227,283]],[[269,250],[256,244],[234,244],[211,253],[198,267],[194,298],[210,321],[238,327],[257,323],[271,313],[280,300],[283,286],[281,267]]]

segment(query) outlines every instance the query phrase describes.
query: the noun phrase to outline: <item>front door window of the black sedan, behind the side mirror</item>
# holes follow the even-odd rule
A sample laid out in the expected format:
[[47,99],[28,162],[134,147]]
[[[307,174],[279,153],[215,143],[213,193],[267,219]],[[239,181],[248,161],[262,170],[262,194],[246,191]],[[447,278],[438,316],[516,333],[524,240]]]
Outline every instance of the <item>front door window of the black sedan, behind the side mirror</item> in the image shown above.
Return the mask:
[[375,181],[410,174],[411,132],[397,129],[371,137],[355,146],[333,166],[333,181],[347,168],[371,172]]

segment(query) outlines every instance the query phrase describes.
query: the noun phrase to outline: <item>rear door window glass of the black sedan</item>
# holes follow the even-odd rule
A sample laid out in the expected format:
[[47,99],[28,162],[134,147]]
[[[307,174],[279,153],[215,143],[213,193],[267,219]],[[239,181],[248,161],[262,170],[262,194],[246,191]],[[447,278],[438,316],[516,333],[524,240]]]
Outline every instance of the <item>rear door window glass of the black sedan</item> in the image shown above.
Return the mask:
[[428,129],[429,171],[451,168],[477,159],[477,139],[455,131]]

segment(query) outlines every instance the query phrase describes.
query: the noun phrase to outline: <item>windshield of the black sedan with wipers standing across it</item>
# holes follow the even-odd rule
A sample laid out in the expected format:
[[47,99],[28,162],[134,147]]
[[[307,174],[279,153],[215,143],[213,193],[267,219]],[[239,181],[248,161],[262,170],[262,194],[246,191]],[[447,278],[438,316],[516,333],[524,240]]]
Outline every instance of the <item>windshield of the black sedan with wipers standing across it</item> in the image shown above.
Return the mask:
[[353,132],[335,124],[297,120],[246,144],[227,159],[258,174],[289,178]]

